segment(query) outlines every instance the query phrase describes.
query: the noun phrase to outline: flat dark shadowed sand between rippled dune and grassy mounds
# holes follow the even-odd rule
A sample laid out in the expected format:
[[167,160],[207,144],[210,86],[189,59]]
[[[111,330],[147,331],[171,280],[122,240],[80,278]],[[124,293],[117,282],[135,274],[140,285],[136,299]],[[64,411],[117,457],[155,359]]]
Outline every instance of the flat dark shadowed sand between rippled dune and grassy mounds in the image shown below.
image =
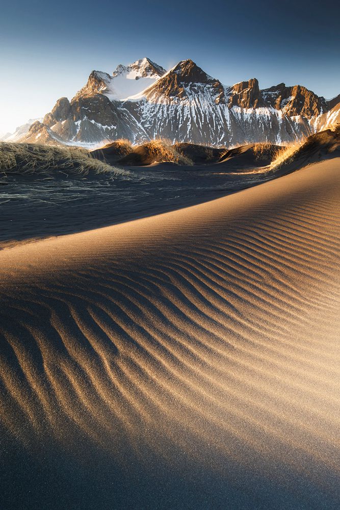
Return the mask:
[[273,178],[220,165],[185,168],[163,163],[113,177],[11,177],[0,185],[0,248],[181,209]]

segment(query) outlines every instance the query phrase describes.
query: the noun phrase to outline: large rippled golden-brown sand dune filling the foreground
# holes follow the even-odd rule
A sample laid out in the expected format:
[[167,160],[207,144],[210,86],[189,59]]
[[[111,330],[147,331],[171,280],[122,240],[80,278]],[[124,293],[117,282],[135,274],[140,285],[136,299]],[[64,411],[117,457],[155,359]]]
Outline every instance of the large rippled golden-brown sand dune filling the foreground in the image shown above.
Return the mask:
[[0,252],[6,507],[336,507],[339,165]]

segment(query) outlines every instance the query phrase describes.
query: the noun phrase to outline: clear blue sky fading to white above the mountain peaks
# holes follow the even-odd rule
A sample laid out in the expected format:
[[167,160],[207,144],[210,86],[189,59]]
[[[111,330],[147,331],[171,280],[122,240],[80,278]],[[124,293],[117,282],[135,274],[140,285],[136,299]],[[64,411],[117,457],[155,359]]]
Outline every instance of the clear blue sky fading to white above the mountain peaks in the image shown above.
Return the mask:
[[340,93],[340,3],[12,0],[0,16],[0,133],[71,98],[92,69],[191,58],[225,84]]

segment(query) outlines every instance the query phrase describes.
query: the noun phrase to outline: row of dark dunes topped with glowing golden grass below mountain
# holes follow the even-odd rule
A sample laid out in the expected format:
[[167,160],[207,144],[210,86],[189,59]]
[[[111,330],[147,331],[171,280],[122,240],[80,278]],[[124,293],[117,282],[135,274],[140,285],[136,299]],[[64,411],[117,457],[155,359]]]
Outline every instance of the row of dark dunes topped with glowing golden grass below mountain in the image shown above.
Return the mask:
[[288,173],[310,163],[338,157],[339,150],[340,124],[337,124],[286,146],[250,143],[232,148],[217,148],[194,143],[171,144],[167,140],[153,140],[132,146],[127,140],[118,140],[93,150],[91,155],[108,164],[121,166],[172,162],[189,167],[215,166],[216,169],[229,172],[255,168],[263,168],[263,172],[277,172],[280,169],[277,172],[280,175],[283,170],[283,173]]

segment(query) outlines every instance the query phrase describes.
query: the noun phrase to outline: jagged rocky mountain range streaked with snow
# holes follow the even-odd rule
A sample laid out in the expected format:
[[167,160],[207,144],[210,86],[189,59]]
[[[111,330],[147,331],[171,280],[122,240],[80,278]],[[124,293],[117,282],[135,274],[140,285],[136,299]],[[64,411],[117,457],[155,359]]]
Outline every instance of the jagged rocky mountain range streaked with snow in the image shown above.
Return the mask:
[[166,72],[144,58],[119,65],[112,75],[92,71],[71,101],[58,99],[21,140],[94,146],[162,137],[226,146],[282,144],[340,120],[334,101],[301,85],[260,90],[256,79],[227,87],[192,60]]

